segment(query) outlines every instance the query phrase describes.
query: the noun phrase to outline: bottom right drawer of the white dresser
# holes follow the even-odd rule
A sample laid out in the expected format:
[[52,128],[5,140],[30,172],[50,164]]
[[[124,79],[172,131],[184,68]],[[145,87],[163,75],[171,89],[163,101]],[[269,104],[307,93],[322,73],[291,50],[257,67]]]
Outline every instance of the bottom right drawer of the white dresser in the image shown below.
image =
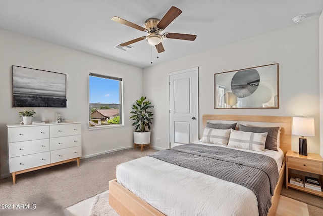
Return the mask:
[[76,146],[67,149],[59,149],[50,151],[50,162],[56,163],[63,160],[68,160],[76,157],[82,156],[82,147]]

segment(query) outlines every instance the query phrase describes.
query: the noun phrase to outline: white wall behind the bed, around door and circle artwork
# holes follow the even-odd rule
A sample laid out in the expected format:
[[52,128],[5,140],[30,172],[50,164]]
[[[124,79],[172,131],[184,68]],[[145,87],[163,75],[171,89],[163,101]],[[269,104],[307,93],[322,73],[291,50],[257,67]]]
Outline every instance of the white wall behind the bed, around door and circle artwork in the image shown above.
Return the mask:
[[[272,63],[280,67],[279,109],[213,109],[214,73]],[[314,116],[316,136],[308,138],[308,152],[319,153],[318,19],[145,68],[144,95],[155,106],[155,148],[169,146],[168,73],[193,67],[199,67],[200,134],[202,114]],[[292,136],[292,150],[298,151],[297,136]]]

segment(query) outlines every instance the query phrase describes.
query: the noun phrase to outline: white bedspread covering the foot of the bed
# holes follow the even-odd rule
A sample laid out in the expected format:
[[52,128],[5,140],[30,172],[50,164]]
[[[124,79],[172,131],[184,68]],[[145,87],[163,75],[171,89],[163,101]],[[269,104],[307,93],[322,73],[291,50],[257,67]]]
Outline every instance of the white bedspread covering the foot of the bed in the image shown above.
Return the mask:
[[118,165],[117,180],[166,215],[258,215],[248,188],[148,156]]

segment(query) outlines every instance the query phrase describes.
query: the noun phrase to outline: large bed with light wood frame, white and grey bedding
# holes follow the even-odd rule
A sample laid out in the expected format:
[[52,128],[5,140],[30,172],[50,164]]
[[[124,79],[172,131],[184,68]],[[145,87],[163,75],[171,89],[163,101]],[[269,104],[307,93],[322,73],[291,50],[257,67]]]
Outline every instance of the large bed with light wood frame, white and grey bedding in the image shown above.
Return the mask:
[[[168,160],[172,160],[172,158],[175,157],[180,158],[180,156],[174,156],[175,154],[177,155],[177,153],[174,152],[173,155],[172,149],[169,150],[167,154],[163,154],[164,151],[159,151],[159,156],[138,158],[118,165],[117,180],[109,182],[109,203],[120,215],[164,215],[164,213],[167,215],[209,215],[214,214],[214,212],[217,215],[275,215],[285,178],[286,162],[284,155],[287,150],[291,149],[291,117],[203,115],[202,118],[204,127],[209,123],[230,124],[232,122],[237,123],[237,128],[240,126],[243,127],[243,125],[280,127],[280,134],[278,136],[280,141],[279,150],[265,150],[265,154],[273,153],[273,157],[270,157],[268,161],[272,164],[275,163],[275,165],[272,166],[277,165],[275,169],[278,173],[278,176],[275,177],[277,180],[272,181],[270,179],[268,180],[268,183],[263,184],[265,185],[265,188],[270,191],[265,193],[270,193],[272,195],[270,196],[271,203],[270,205],[267,205],[267,207],[269,206],[270,208],[268,207],[268,209],[263,210],[262,208],[267,207],[259,207],[265,206],[262,205],[262,203],[266,202],[263,202],[262,200],[268,199],[268,197],[262,198],[263,195],[261,191],[264,190],[263,187],[259,189],[260,192],[256,191],[254,193],[254,188],[257,188],[258,186],[249,187],[249,183],[246,183],[246,185],[236,184],[236,177],[225,177],[224,179],[221,179],[218,178],[218,176],[212,176],[209,173],[205,174],[197,171],[196,167],[192,167],[192,164],[189,164],[188,167],[185,167],[185,165],[184,167],[182,165],[179,166],[176,164],[178,161],[173,164]],[[233,133],[231,135],[233,135]],[[202,138],[204,138],[204,135]],[[183,148],[185,149],[183,149],[182,146],[184,146]],[[181,145],[178,147],[178,150],[176,148],[177,147],[174,149],[180,151],[181,154],[183,151],[187,151],[186,148],[202,148],[202,150],[199,149],[197,152],[203,152],[203,154],[204,151],[213,151],[214,148],[217,148],[217,151],[222,151],[222,149],[226,149],[223,151],[227,151],[227,149],[229,149],[228,151],[230,151],[230,154],[233,154],[230,157],[227,157],[230,158],[230,160],[231,158],[236,157],[236,152],[241,152],[241,149],[235,150],[235,148],[223,145],[205,145],[204,142],[200,141],[196,144]],[[245,151],[246,154],[249,154],[248,150],[242,150],[242,152],[243,151]],[[184,152],[183,154],[185,155],[186,153],[187,152]],[[214,152],[211,152],[211,154],[216,155]],[[225,154],[227,154],[227,152],[225,152]],[[252,156],[252,158],[261,157],[259,160],[264,160],[262,157],[265,157],[262,156],[262,154],[259,154],[259,152],[251,151],[250,154],[257,155]],[[219,156],[221,157],[221,155]],[[208,163],[213,163],[213,160],[209,161],[209,157],[210,156],[206,156],[206,166]],[[251,158],[251,156],[248,157]],[[183,158],[185,158],[185,156],[182,156],[180,161],[184,160]],[[199,158],[199,155],[192,156],[193,161],[197,161]],[[201,159],[201,161],[204,160],[205,159]],[[230,164],[231,162],[232,161],[229,161]],[[256,164],[257,162],[253,163]],[[198,162],[195,164],[202,163]],[[214,164],[215,165],[212,165],[212,167],[217,166],[218,160],[215,161]],[[204,166],[205,164],[201,167],[203,168]],[[221,165],[221,167],[225,166],[227,165]],[[198,167],[197,169],[201,167]],[[228,168],[231,170],[231,165],[230,167],[228,166]],[[274,170],[274,168],[271,168],[271,170]],[[212,173],[213,172],[221,172],[222,176],[226,176],[224,173],[227,173],[228,171],[218,171],[217,169],[213,170]],[[244,173],[249,174],[249,172],[243,171],[241,172],[241,175],[244,175]],[[249,174],[249,176],[253,176],[253,174]],[[226,181],[226,178],[229,179]],[[232,181],[232,179],[234,180]],[[262,179],[264,179],[264,177]],[[178,183],[180,185],[178,185]],[[241,199],[241,197],[243,197],[243,199]]]

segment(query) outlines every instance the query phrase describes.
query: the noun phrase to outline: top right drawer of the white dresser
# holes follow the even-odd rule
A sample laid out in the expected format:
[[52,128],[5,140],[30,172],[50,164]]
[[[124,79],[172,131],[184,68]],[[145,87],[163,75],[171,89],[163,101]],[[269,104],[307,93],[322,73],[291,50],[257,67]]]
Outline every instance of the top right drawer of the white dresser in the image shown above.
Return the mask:
[[81,124],[50,125],[50,137],[64,137],[81,134]]

